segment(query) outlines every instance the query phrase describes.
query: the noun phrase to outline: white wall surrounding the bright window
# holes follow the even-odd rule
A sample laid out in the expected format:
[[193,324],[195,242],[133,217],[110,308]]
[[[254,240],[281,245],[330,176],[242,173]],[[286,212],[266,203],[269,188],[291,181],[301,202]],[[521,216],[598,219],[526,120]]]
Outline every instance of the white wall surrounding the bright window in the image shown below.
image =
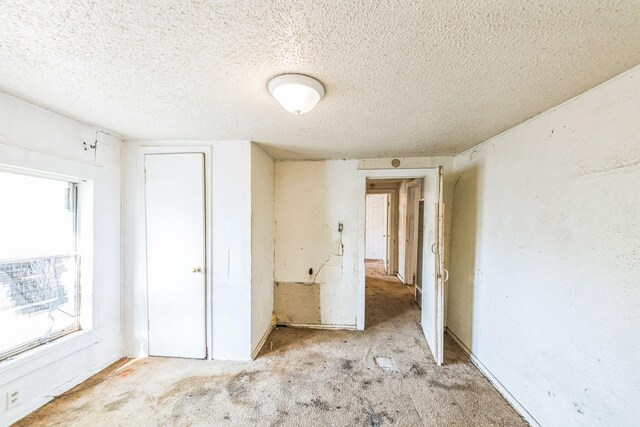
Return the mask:
[[[35,410],[123,356],[120,322],[120,147],[117,137],[0,93],[0,164],[93,183],[93,330],[0,362],[0,425]],[[86,283],[83,283],[85,286]],[[87,288],[85,288],[86,290]],[[2,325],[5,327],[5,325]],[[7,410],[6,394],[20,401]]]

